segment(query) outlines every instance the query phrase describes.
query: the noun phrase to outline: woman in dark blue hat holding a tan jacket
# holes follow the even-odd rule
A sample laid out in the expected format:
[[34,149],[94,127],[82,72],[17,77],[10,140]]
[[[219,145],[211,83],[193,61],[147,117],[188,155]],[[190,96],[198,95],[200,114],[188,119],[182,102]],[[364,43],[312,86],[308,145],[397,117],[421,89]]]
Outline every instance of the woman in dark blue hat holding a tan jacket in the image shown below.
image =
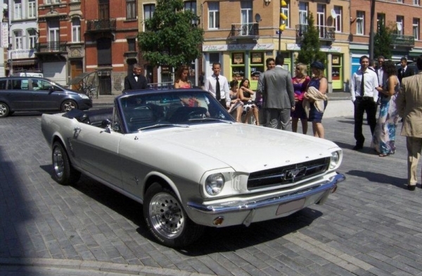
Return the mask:
[[[309,105],[308,121],[312,121],[312,131],[315,137],[324,139],[324,126],[322,125],[322,116],[327,105],[328,81],[324,76],[324,64],[320,61],[314,61],[311,64],[312,79],[309,81],[308,91],[303,96],[304,105]],[[312,91],[309,88],[313,87]],[[307,108],[305,108],[307,110]]]

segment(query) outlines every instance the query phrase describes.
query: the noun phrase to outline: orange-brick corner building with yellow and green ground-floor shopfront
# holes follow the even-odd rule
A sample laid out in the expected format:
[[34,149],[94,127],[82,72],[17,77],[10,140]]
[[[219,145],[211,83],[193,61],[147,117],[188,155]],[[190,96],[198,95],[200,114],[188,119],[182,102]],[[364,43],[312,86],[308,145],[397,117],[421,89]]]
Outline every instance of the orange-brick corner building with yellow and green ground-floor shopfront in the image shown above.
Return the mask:
[[[202,1],[200,18],[205,30],[204,71],[212,74],[212,63],[222,63],[222,74],[252,78],[265,70],[265,60],[281,53],[284,67],[293,72],[295,58],[312,13],[319,29],[321,51],[326,53],[329,91],[343,91],[350,75],[348,24],[350,1],[242,0]],[[281,20],[280,13],[286,16]],[[285,24],[283,32],[279,26]],[[256,85],[252,81],[252,86]]]

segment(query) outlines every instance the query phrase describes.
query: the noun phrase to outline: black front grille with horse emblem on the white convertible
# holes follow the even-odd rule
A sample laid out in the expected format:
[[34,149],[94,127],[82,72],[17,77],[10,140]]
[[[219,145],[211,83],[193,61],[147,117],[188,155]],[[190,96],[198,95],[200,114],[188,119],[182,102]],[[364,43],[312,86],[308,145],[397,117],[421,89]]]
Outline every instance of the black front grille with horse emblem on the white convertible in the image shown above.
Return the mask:
[[330,165],[330,157],[300,164],[281,166],[275,169],[255,171],[248,178],[248,190],[267,188],[276,185],[291,185],[312,176],[324,173]]

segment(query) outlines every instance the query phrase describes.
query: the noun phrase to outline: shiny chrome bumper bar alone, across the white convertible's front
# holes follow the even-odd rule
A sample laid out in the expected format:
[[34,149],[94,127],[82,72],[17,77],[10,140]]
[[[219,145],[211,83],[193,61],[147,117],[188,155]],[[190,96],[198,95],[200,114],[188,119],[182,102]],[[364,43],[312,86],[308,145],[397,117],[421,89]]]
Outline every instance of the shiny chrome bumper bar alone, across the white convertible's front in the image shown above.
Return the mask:
[[341,173],[336,174],[335,176],[331,177],[329,180],[324,181],[323,183],[319,183],[317,186],[313,186],[304,190],[298,190],[296,192],[290,192],[287,195],[281,195],[279,197],[271,197],[269,199],[262,199],[258,201],[251,201],[251,202],[235,202],[234,205],[224,205],[216,204],[216,205],[205,205],[205,204],[198,204],[196,202],[188,202],[187,206],[190,209],[195,211],[199,211],[201,213],[207,214],[219,214],[219,213],[229,213],[229,212],[236,212],[236,211],[247,211],[250,209],[259,209],[262,207],[275,205],[275,204],[283,204],[286,202],[291,202],[293,200],[298,200],[304,197],[309,197],[315,195],[319,192],[324,192],[326,190],[331,190],[335,187],[338,183],[345,180],[345,176]]

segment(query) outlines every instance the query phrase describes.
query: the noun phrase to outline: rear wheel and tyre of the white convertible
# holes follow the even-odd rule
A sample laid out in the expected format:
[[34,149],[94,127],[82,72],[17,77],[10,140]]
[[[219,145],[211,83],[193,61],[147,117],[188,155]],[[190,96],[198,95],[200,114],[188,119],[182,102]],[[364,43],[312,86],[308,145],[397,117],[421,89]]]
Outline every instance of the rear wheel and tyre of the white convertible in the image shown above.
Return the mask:
[[53,152],[51,154],[53,162],[53,177],[62,185],[70,185],[79,180],[81,173],[75,170],[70,163],[68,153],[65,147],[59,142],[53,144]]

